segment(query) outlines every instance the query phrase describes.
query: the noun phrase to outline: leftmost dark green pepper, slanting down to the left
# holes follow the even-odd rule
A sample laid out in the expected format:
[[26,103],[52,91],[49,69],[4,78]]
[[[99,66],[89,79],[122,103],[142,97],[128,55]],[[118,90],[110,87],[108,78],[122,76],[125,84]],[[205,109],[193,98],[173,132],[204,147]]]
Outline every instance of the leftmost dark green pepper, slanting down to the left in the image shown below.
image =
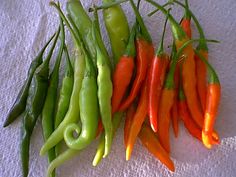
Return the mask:
[[21,90],[18,93],[18,96],[14,104],[10,109],[3,127],[7,127],[8,125],[10,125],[14,120],[16,120],[20,116],[21,113],[24,112],[25,106],[26,106],[26,100],[28,97],[29,87],[30,87],[30,83],[32,81],[34,72],[37,69],[37,67],[43,62],[42,58],[43,58],[44,51],[54,36],[55,34],[53,34],[53,36],[47,41],[47,43],[44,45],[44,47],[41,49],[41,51],[38,53],[35,59],[31,62],[30,68],[28,70],[28,77],[25,80],[24,85],[21,87]]

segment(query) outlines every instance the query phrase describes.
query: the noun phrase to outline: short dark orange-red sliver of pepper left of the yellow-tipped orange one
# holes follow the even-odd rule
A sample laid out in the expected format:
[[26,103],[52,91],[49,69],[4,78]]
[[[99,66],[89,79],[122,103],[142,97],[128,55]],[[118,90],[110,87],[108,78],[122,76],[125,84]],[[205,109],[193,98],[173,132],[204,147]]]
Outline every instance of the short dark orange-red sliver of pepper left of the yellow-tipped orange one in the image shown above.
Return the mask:
[[125,148],[127,148],[129,130],[130,130],[130,126],[133,122],[135,111],[136,111],[135,106],[134,106],[134,104],[132,104],[128,108],[127,113],[126,113],[125,126],[124,126],[124,144],[125,144]]

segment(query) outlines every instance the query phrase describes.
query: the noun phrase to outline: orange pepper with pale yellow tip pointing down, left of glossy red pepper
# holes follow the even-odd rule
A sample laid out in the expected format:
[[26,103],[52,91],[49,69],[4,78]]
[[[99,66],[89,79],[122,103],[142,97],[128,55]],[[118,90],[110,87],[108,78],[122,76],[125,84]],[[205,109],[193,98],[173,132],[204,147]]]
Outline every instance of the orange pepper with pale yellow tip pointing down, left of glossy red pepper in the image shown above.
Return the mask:
[[134,115],[133,121],[131,123],[129,133],[128,133],[128,141],[126,148],[126,160],[129,160],[131,157],[131,153],[136,141],[136,137],[142,127],[142,124],[147,116],[147,107],[148,107],[148,85],[147,79],[145,83],[143,83],[141,89],[141,96],[138,102],[138,107],[136,113]]

